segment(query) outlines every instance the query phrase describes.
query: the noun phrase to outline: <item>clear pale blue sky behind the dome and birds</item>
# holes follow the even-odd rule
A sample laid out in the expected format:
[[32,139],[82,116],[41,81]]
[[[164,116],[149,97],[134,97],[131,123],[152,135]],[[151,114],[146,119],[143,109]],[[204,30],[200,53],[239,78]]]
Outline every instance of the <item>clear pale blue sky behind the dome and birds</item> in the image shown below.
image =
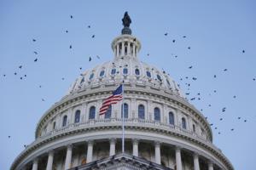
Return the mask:
[[0,169],[32,143],[39,118],[67,94],[80,67],[113,59],[110,43],[127,10],[140,59],[170,73],[189,100],[196,97],[190,103],[213,123],[213,143],[236,169],[254,170],[255,7],[253,0],[1,0]]

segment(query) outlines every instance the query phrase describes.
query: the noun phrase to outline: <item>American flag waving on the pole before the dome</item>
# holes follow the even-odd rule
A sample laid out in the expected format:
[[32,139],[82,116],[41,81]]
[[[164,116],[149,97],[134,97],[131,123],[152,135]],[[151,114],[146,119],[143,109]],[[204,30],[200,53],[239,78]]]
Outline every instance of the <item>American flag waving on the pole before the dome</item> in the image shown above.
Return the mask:
[[113,91],[112,95],[105,99],[100,108],[100,115],[105,114],[108,111],[108,107],[113,104],[117,104],[119,100],[123,99],[123,85],[121,84],[119,88]]

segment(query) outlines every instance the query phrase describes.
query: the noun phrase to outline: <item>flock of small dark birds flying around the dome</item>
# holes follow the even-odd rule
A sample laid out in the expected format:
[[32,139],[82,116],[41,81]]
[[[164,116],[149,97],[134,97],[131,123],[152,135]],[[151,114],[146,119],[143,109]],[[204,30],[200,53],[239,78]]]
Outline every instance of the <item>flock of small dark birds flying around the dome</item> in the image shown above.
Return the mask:
[[[73,20],[73,15],[70,15],[70,19]],[[90,27],[91,27],[91,26],[87,26],[88,29],[90,29]],[[65,32],[68,33],[69,31],[66,30]],[[165,37],[168,37],[168,32],[164,33],[164,36],[165,36]],[[95,37],[96,37],[95,34],[93,34],[93,35],[91,36],[91,38],[95,38]],[[183,36],[182,38],[187,38],[187,36]],[[135,41],[136,41],[136,39],[135,39]],[[38,40],[37,40],[36,38],[32,38],[32,42],[33,42],[33,43],[37,43]],[[172,39],[172,43],[177,43],[177,40],[176,40],[176,39]],[[72,45],[72,44],[69,45],[69,49],[73,49],[73,45]],[[190,50],[191,47],[189,46],[189,47],[187,47],[187,49]],[[34,57],[34,59],[33,59],[33,62],[35,62],[35,63],[40,61],[40,59],[38,58],[38,53],[39,53],[38,51],[33,51],[33,54],[35,55],[35,57]],[[242,49],[242,50],[241,50],[241,53],[244,54],[244,53],[245,53],[245,50]],[[149,53],[147,54],[147,56],[149,56]],[[175,54],[172,54],[172,56],[174,56],[175,58],[177,58],[177,55],[175,55]],[[101,59],[100,56],[98,56],[98,55],[96,55],[96,58],[97,58],[97,59]],[[93,59],[92,57],[89,57],[89,58],[88,58],[88,61],[90,62],[92,59]],[[18,70],[21,70],[23,67],[24,67],[24,65],[18,65],[18,66],[17,66],[17,69],[18,69]],[[189,65],[189,67],[188,67],[189,70],[192,70],[193,68],[194,68],[194,65]],[[79,70],[82,70],[82,69],[83,69],[82,67],[79,67]],[[228,69],[225,68],[223,71],[228,71]],[[18,72],[19,72],[19,71],[15,71],[13,74],[18,77]],[[166,71],[164,71],[164,72],[166,72]],[[8,76],[7,74],[3,74],[3,77],[7,77],[7,76]],[[21,76],[21,77],[19,77],[19,78],[20,78],[20,80],[24,80],[26,77],[27,77],[27,75],[25,74],[25,75],[23,75],[23,76]],[[216,79],[216,78],[217,78],[217,75],[213,75],[212,77],[213,77],[214,79]],[[188,92],[185,93],[185,95],[187,96],[187,99],[188,99],[188,100],[191,100],[191,101],[193,101],[193,100],[201,100],[202,97],[201,97],[201,93],[200,93],[200,92],[197,93],[196,96],[189,97],[189,96],[190,96],[189,88],[191,87],[191,84],[193,83],[193,82],[189,82],[189,79],[191,79],[192,81],[196,81],[196,80],[197,80],[197,77],[181,77],[181,78],[179,79],[180,82],[185,82],[184,85],[185,85],[186,88],[188,89]],[[65,78],[64,78],[64,77],[61,77],[61,80],[65,80]],[[256,79],[253,78],[253,81],[256,81]],[[177,84],[177,85],[180,86],[180,84]],[[42,85],[39,85],[39,88],[42,88]],[[217,90],[213,90],[213,93],[217,93]],[[233,99],[236,99],[236,95],[233,96]],[[42,98],[41,100],[42,100],[42,102],[45,101],[45,99],[43,99],[43,98]],[[211,106],[212,106],[211,104],[208,104],[208,107],[211,107]],[[226,110],[227,110],[227,108],[226,108],[226,107],[223,107],[223,108],[221,109],[221,112],[224,113]],[[203,110],[201,109],[201,111],[203,111]],[[207,117],[206,117],[206,119],[207,119]],[[238,119],[238,120],[241,120],[241,121],[243,121],[243,122],[247,122],[247,119],[244,119],[244,118],[242,118],[241,116],[237,117],[237,119]],[[223,117],[219,117],[218,120],[219,120],[219,121],[224,121],[224,118],[223,118]],[[218,129],[218,127],[214,127],[214,123],[211,122],[210,125],[211,125],[215,130]],[[218,130],[219,130],[219,129],[218,129]],[[230,131],[234,131],[234,130],[235,130],[234,127],[230,128]],[[218,131],[218,134],[221,134],[221,131]],[[11,136],[8,136],[8,138],[10,139]],[[26,144],[24,144],[24,147],[26,147]]]

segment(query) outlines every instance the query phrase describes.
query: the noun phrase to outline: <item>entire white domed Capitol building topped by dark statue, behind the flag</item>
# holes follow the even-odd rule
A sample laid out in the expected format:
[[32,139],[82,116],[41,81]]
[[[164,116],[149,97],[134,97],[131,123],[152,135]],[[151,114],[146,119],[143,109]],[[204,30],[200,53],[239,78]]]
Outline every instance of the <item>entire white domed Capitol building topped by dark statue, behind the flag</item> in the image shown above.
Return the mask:
[[[141,42],[124,28],[113,39],[113,60],[84,71],[68,93],[44,113],[35,140],[11,170],[234,170],[212,144],[206,118],[166,72],[139,60]],[[123,103],[99,115],[120,83]],[[122,108],[124,107],[124,108]],[[122,152],[122,109],[125,152]]]

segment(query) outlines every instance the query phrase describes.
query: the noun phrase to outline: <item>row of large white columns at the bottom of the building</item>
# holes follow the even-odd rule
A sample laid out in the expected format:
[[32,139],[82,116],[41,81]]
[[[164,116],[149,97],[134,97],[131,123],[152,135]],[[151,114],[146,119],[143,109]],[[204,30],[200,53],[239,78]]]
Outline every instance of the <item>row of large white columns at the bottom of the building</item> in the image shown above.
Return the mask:
[[[86,163],[89,163],[90,161],[93,161],[93,145],[95,142],[93,140],[89,140],[87,142],[87,156],[86,156]],[[116,139],[109,139],[109,156],[113,156],[116,154]],[[132,139],[132,155],[138,156],[138,139]],[[161,164],[161,154],[160,154],[160,142],[155,141],[154,142],[154,162],[157,164]],[[182,148],[179,146],[175,146],[175,164],[176,164],[176,170],[182,170],[183,169],[183,162],[182,162],[182,156],[181,156],[181,150]],[[73,151],[73,144],[67,145],[67,151],[66,151],[66,159],[65,159],[65,170],[71,168],[72,165],[72,151]],[[54,161],[54,150],[49,150],[48,152],[48,161],[46,170],[52,170],[53,168],[53,161]],[[193,154],[193,160],[194,160],[194,170],[200,170],[200,164],[199,164],[199,155],[197,153]],[[32,170],[38,170],[38,158],[34,159],[32,162]],[[208,161],[208,170],[213,170],[213,163],[212,161]]]

